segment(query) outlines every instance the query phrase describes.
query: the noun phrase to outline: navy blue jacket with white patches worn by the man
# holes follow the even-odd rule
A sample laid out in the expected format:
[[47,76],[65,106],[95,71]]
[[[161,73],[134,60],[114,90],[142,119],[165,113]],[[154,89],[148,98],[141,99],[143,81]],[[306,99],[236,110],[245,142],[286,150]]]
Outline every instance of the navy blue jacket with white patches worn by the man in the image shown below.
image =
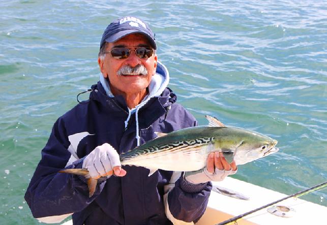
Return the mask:
[[[175,101],[176,95],[165,88],[161,96],[151,98],[139,110],[141,144],[154,139],[155,132],[169,133],[197,124]],[[158,170],[148,177],[148,169],[125,166],[126,176],[111,176],[98,184],[92,198],[88,197],[86,183],[78,176],[57,173],[63,168],[80,168],[82,158],[103,143],[109,143],[118,153],[133,149],[136,121],[132,115],[125,128],[127,117],[123,97],[109,98],[99,82],[92,86],[90,100],[57,119],[25,194],[34,217],[56,221],[73,213],[73,222],[78,225],[172,224],[164,204],[169,182],[174,182],[167,198],[171,215],[188,222],[201,217],[211,183],[192,185],[180,175],[173,180],[172,171]]]

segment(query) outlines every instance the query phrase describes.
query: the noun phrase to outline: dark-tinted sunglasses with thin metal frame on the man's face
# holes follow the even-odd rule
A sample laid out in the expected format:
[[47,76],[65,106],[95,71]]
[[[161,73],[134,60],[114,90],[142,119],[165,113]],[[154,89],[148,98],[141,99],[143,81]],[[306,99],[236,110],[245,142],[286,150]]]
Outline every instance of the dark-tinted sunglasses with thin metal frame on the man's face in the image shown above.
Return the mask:
[[[113,48],[110,50],[110,54],[112,57],[116,59],[125,59],[128,58],[131,54],[131,50],[135,51],[135,54],[142,59],[147,59],[148,57],[151,57],[153,54],[152,48],[147,47],[135,47],[135,48],[128,48],[128,47],[122,47],[122,48]],[[109,52],[105,52],[109,53]]]

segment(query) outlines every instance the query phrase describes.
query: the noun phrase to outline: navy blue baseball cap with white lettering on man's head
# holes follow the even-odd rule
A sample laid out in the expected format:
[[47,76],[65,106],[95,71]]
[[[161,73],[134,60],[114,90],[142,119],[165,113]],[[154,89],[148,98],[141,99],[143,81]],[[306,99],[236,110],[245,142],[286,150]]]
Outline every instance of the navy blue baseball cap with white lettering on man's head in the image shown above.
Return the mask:
[[150,42],[150,45],[154,49],[157,49],[155,35],[150,27],[145,22],[134,16],[125,16],[110,23],[102,35],[100,48],[105,42],[115,42],[131,34],[144,35]]

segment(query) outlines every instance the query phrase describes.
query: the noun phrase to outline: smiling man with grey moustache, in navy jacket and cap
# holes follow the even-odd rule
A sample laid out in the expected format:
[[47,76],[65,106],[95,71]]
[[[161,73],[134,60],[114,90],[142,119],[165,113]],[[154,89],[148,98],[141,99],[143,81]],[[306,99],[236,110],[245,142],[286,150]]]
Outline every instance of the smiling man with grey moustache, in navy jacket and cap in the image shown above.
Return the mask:
[[[197,125],[167,88],[169,74],[158,61],[154,34],[146,23],[123,17],[110,23],[100,43],[100,82],[90,100],[55,122],[25,199],[34,217],[74,224],[193,224],[204,213],[210,180],[236,172],[218,152],[195,172],[121,167],[119,155],[169,133]],[[57,173],[85,168],[99,179],[89,198],[85,180]],[[105,177],[114,170],[115,176]]]

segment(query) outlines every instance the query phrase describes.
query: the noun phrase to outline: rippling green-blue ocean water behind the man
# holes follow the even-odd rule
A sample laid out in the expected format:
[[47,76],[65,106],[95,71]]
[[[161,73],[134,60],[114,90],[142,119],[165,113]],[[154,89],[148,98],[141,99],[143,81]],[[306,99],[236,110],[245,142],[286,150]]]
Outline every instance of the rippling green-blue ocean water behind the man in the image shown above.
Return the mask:
[[[125,15],[150,24],[169,87],[200,124],[209,114],[279,141],[234,178],[288,195],[327,179],[325,1],[2,0],[0,224],[39,224],[23,195],[41,149],[98,81],[103,30]],[[302,198],[327,206],[326,189]]]

